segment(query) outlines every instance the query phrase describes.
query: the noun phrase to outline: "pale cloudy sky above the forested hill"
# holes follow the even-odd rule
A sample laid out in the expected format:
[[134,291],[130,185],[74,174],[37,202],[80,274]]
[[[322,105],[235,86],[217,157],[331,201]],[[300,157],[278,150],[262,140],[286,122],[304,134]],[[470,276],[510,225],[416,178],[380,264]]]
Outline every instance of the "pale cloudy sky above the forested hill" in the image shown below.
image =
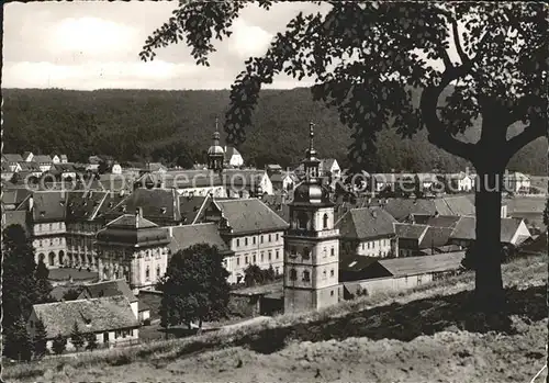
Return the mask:
[[[318,5],[278,3],[267,12],[250,4],[216,43],[210,67],[197,66],[184,44],[139,59],[148,35],[177,1],[30,2],[4,5],[2,88],[228,89],[250,56],[262,56],[277,32],[300,11]],[[322,9],[321,9],[322,10]],[[281,75],[268,88],[310,86]]]

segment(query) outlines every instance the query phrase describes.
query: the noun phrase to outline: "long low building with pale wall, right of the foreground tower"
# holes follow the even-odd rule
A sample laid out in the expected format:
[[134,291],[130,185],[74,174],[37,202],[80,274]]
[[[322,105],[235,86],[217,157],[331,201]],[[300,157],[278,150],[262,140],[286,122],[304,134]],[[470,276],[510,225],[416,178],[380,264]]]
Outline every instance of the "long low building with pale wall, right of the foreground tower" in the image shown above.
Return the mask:
[[340,296],[351,300],[388,291],[404,291],[462,270],[463,251],[426,257],[381,259],[366,267],[363,280],[340,284]]

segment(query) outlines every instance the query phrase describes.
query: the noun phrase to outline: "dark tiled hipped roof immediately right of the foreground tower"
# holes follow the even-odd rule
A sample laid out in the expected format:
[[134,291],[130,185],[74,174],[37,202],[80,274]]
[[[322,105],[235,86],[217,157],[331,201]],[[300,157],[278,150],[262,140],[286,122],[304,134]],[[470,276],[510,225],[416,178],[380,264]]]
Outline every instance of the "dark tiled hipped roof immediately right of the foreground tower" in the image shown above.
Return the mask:
[[394,236],[394,219],[381,207],[352,209],[337,223],[343,238],[369,239]]

